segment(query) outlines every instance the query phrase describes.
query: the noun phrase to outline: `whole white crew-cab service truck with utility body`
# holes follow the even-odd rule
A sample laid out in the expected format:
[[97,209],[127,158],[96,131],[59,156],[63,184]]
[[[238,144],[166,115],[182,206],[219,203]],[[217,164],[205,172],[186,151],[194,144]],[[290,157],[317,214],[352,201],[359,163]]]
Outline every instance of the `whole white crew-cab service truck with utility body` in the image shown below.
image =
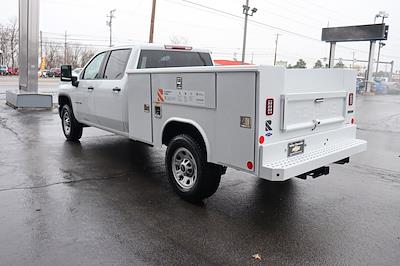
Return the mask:
[[366,149],[356,138],[356,74],[346,69],[213,66],[206,50],[138,45],[95,55],[79,77],[63,66],[67,140],[93,126],[167,146],[174,190],[194,201],[226,167],[271,181],[328,174]]

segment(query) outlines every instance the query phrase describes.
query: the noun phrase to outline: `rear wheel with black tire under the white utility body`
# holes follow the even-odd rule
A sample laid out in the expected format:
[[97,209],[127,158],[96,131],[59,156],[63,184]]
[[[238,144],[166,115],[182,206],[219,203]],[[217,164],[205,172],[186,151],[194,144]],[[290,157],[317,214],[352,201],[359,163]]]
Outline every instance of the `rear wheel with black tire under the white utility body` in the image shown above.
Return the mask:
[[[188,157],[186,158],[188,161],[187,164],[184,164],[185,159],[183,159],[186,156],[185,153]],[[178,165],[179,158],[182,160]],[[173,162],[175,162],[174,166]],[[181,168],[182,164],[183,170]],[[222,173],[221,166],[208,163],[205,148],[189,135],[178,135],[169,142],[165,156],[165,165],[167,167],[168,179],[173,189],[181,198],[187,201],[199,202],[212,196],[218,189]],[[186,165],[189,165],[189,169],[191,169],[190,165],[193,166],[193,169],[196,167],[196,171],[194,171],[196,176],[192,178],[192,182],[189,181],[190,185],[188,187],[185,187],[186,183],[184,183],[184,179],[188,175],[182,172],[188,172],[190,176],[190,171],[185,169]],[[173,167],[175,167],[175,171]],[[177,172],[182,174],[179,175]],[[175,175],[177,176],[176,178]],[[180,177],[182,180],[178,181]]]

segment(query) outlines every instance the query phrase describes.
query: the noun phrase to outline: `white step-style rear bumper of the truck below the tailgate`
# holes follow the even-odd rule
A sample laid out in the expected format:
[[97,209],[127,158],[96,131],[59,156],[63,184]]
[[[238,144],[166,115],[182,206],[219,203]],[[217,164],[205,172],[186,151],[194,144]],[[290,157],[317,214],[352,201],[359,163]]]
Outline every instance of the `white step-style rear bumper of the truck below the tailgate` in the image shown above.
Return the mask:
[[305,152],[293,157],[277,158],[279,155],[273,155],[282,149],[285,152],[285,147],[291,140],[261,147],[259,177],[271,181],[284,181],[367,149],[367,142],[356,139],[355,128],[352,127],[304,139],[307,145]]

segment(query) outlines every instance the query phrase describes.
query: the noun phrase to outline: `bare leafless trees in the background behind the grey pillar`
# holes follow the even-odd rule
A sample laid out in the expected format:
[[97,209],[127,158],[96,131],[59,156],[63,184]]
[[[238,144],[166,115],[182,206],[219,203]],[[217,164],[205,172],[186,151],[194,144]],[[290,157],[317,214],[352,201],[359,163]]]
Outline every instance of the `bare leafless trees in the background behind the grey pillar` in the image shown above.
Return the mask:
[[[0,23],[0,65],[18,66],[19,30],[17,19]],[[96,53],[96,49],[82,44],[66,44],[46,39],[40,42],[39,57],[45,58],[45,68],[60,67],[62,64],[82,67]]]

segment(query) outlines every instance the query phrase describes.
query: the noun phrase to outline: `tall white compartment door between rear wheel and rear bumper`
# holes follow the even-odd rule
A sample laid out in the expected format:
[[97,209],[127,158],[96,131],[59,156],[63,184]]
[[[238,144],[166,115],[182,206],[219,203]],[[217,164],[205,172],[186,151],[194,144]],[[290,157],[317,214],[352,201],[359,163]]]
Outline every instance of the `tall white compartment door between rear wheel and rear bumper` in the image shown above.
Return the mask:
[[[255,95],[255,72],[217,74],[216,157],[219,163],[246,170],[248,162],[254,164]],[[244,120],[250,124],[243,125]]]

